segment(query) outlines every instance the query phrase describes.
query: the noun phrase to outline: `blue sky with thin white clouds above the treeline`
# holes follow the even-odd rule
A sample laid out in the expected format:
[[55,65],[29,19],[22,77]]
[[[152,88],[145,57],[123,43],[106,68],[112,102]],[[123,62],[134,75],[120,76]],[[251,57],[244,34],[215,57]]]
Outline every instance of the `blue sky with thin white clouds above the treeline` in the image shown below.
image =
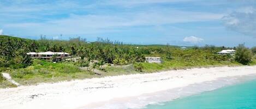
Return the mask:
[[0,34],[256,46],[256,0],[0,0]]

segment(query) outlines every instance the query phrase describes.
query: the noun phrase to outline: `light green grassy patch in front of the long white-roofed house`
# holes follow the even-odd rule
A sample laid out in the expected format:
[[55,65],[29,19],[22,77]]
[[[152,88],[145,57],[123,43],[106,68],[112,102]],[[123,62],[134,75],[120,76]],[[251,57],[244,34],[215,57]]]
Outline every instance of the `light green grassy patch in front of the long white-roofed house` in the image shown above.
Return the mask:
[[44,60],[34,60],[33,65],[12,70],[10,75],[21,85],[97,77],[92,72],[82,70],[71,62],[52,63]]

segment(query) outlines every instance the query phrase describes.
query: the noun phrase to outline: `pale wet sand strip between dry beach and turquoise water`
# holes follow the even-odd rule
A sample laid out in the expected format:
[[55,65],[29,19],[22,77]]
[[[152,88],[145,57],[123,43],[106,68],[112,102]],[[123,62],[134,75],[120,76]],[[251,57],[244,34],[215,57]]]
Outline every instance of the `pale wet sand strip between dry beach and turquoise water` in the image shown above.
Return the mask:
[[164,105],[165,102],[186,98],[204,92],[214,91],[223,87],[243,84],[244,82],[252,80],[256,80],[256,74],[230,76],[227,78],[219,78],[217,80],[168,89],[166,91],[145,93],[135,97],[116,98],[109,101],[94,102],[90,105],[76,109],[105,109],[113,108],[112,106],[115,106],[115,108],[145,109],[148,105]]

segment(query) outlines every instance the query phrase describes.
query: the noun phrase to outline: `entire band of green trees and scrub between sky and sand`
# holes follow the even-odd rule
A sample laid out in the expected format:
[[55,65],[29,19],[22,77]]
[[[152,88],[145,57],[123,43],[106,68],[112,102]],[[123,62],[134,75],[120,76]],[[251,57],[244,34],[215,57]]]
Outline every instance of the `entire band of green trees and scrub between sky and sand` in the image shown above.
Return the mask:
[[[242,48],[243,53],[237,53],[235,58],[231,55],[216,54],[222,49],[232,48],[206,45],[180,49],[169,45],[130,45],[100,38],[92,43],[86,43],[86,39],[80,37],[59,41],[47,40],[45,37],[41,37],[40,40],[27,40],[0,35],[0,39],[0,71],[8,72],[21,85],[151,73],[169,69],[240,66],[245,64],[240,57],[246,57],[249,53],[247,48],[246,50]],[[237,50],[240,48],[237,47]],[[71,55],[71,59],[56,62],[56,56],[46,61],[31,59],[26,55],[27,52],[46,51],[67,52]],[[242,56],[238,56],[241,54]],[[147,63],[145,56],[162,57],[163,63]],[[247,61],[248,64],[256,65],[255,56],[251,59]]]

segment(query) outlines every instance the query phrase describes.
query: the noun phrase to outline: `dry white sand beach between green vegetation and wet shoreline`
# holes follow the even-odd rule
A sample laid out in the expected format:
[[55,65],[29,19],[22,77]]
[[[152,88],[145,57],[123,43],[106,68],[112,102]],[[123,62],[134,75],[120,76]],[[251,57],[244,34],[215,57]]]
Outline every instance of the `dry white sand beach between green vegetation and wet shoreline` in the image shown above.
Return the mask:
[[[40,84],[37,86],[20,86],[0,89],[1,109],[76,109],[76,108],[119,108],[104,107],[115,101],[132,101],[133,97],[186,87],[219,78],[256,74],[256,66],[194,68],[187,70],[170,70],[151,74],[133,74],[110,76]],[[177,92],[176,92],[177,93]],[[142,97],[142,96],[141,96]],[[145,98],[139,98],[143,100]],[[120,102],[119,102],[120,103]]]

